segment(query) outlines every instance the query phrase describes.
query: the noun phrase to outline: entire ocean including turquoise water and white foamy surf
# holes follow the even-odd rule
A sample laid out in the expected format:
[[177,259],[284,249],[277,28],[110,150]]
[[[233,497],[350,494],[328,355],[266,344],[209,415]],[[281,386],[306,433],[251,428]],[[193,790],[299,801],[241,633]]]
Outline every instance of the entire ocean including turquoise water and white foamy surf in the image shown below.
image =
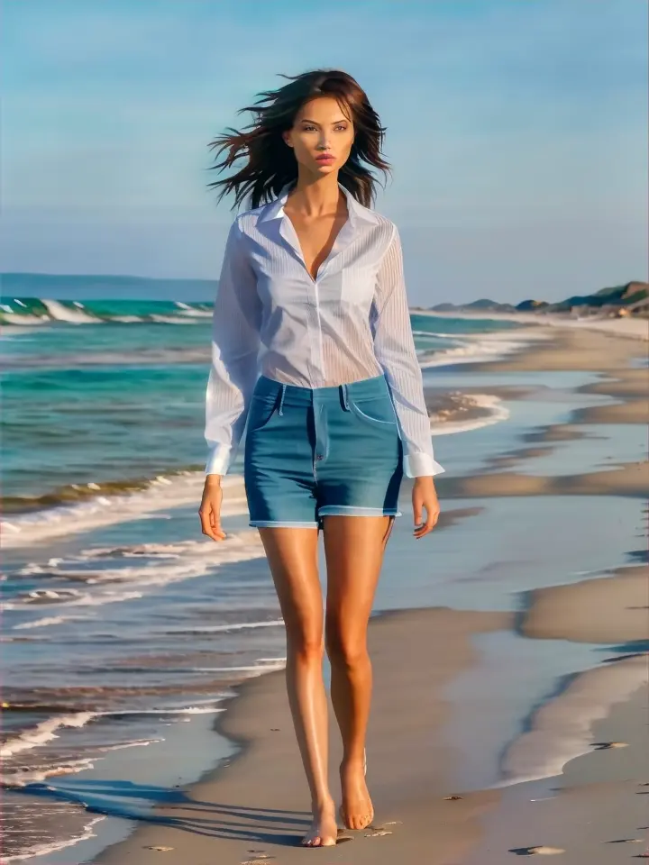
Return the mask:
[[[210,316],[203,300],[2,299],[6,862],[72,861],[67,845],[101,819],[79,808],[84,778],[284,664],[241,455],[225,479],[228,540],[200,533]],[[511,417],[476,376],[467,402],[462,363],[520,348],[518,325],[413,312],[412,326],[447,471],[480,469],[556,413]],[[388,580],[384,608],[432,603],[417,579],[394,596]],[[460,603],[460,584],[442,588]]]

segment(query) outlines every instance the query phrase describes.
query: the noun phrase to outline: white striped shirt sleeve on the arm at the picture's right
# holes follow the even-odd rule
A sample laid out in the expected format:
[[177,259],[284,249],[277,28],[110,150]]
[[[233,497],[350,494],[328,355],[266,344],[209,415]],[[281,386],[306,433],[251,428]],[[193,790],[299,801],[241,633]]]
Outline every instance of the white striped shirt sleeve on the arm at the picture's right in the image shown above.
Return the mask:
[[404,473],[408,478],[440,474],[444,469],[434,460],[396,226],[379,265],[373,312],[374,351],[395,405],[404,449]]

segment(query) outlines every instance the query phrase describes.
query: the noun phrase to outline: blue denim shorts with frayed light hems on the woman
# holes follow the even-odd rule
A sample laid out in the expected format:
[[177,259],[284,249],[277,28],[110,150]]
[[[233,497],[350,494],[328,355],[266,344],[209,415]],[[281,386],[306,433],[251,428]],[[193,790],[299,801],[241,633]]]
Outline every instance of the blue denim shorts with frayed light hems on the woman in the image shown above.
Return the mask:
[[401,516],[402,458],[384,376],[337,387],[261,376],[243,453],[249,524],[321,528],[327,514]]

